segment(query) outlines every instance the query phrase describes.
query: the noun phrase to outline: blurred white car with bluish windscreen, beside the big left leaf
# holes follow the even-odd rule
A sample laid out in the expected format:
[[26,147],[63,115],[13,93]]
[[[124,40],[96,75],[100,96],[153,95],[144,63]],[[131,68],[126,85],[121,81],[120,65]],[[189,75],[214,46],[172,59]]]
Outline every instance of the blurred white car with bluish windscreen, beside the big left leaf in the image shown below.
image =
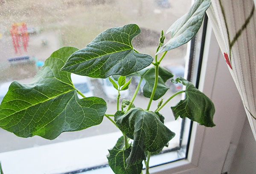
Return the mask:
[[[71,74],[71,79],[76,89],[81,91],[86,97],[93,96],[93,87],[90,83],[90,78],[82,75]],[[79,95],[79,99],[83,97]]]

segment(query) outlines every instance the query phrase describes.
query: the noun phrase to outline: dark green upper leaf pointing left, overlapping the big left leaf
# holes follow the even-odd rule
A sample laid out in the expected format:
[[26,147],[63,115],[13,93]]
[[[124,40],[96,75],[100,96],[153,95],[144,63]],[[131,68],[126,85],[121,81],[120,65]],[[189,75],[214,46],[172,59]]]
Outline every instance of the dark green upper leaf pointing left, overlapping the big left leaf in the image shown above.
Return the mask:
[[134,52],[131,41],[139,34],[136,24],[107,29],[85,48],[73,53],[61,70],[93,78],[126,76],[142,70],[153,58]]

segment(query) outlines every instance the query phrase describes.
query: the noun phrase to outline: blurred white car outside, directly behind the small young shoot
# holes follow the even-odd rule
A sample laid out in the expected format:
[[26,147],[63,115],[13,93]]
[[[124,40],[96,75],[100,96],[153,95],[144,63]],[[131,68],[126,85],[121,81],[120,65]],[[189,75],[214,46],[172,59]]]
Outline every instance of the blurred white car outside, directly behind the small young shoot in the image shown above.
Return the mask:
[[[103,79],[99,79],[99,80],[102,83],[102,87],[103,87],[104,93],[108,97],[108,99],[111,99],[111,100],[116,99],[118,92],[113,87],[113,84],[111,84],[109,79],[108,78],[103,78]],[[116,80],[114,80],[114,81],[116,82],[116,84],[118,84],[118,82]],[[129,92],[128,92],[128,90],[120,91],[120,95],[121,95],[121,98],[127,98],[128,95],[129,95]]]

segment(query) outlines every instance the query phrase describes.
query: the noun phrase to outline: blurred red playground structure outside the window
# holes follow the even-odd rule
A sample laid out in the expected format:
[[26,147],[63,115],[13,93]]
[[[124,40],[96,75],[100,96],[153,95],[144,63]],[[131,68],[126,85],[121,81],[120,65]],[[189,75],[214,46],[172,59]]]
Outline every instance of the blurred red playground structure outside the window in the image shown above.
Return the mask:
[[26,23],[13,23],[12,29],[10,30],[12,35],[12,43],[15,49],[15,53],[21,54],[20,46],[23,45],[25,52],[27,52],[27,46],[29,43],[29,34],[27,32]]

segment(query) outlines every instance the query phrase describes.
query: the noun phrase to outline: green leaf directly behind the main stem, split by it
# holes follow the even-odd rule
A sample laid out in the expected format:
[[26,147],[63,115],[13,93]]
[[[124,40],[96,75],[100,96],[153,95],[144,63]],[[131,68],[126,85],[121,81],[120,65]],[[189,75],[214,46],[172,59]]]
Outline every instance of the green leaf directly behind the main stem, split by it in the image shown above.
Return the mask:
[[[155,67],[150,67],[148,69],[141,70],[139,72],[136,72],[132,75],[140,76],[141,78],[145,79],[146,83],[143,87],[143,95],[145,97],[150,98],[151,93],[154,88],[154,81],[155,81]],[[169,87],[165,85],[165,82],[172,78],[173,75],[168,70],[166,70],[163,67],[159,67],[158,70],[158,83],[157,83],[157,90],[154,94],[153,100],[160,99],[167,90],[169,90]]]

